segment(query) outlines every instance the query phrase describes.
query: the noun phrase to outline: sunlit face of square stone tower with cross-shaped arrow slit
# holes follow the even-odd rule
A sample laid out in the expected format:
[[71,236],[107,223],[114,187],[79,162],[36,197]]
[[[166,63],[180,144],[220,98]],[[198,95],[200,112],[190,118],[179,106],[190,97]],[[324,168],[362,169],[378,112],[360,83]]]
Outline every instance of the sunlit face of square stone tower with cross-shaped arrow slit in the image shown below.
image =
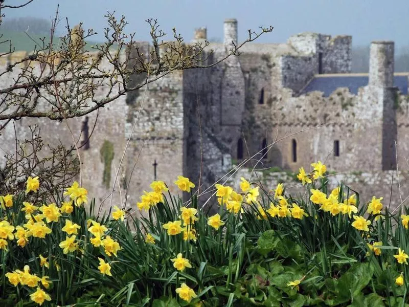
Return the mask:
[[173,189],[176,177],[183,174],[183,72],[173,72],[139,91],[136,100],[130,103],[125,125],[126,139],[131,136],[124,176],[126,181],[130,180],[131,204],[150,189],[155,160],[157,180],[164,180],[169,188]]

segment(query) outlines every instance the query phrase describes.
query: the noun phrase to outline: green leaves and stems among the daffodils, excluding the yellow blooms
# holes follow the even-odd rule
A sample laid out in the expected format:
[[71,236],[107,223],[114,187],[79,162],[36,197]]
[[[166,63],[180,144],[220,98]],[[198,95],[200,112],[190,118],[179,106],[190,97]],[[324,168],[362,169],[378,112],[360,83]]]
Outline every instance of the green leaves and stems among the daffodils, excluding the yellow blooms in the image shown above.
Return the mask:
[[[326,184],[325,180],[315,181],[309,188],[328,195]],[[262,194],[260,205],[243,203],[239,214],[221,207],[219,214],[225,224],[218,230],[208,225],[207,212],[198,210],[197,221],[190,226],[182,224],[195,230],[197,238],[190,240],[185,240],[183,233],[169,235],[163,228],[179,220],[184,206],[170,193],[163,194],[163,201],[152,205],[141,218],[128,214],[125,222],[94,216],[93,202],[89,209],[74,206],[74,211],[63,213],[58,222],[47,223],[52,233],[46,238],[31,236],[22,248],[16,240],[9,240],[8,250],[0,250],[0,305],[34,306],[29,298],[34,289],[14,287],[5,276],[25,265],[32,274],[49,276],[52,283],[44,291],[59,305],[400,306],[408,301],[406,278],[403,286],[396,286],[395,279],[401,272],[409,276],[409,270],[393,257],[397,248],[409,250],[407,230],[388,210],[375,220],[379,215],[366,215],[368,204],[360,205],[357,194],[356,214],[371,221],[369,231],[364,232],[352,226],[348,214],[333,215],[313,204],[309,193],[305,199],[288,198],[289,204],[304,208],[308,216],[264,216],[262,210],[267,211],[270,203],[278,205],[278,200],[266,191]],[[338,202],[344,203],[351,194],[347,186],[340,185]],[[2,220],[14,226],[27,223],[22,202],[32,201],[32,197],[14,195],[13,206],[0,209]],[[197,208],[195,196],[190,207]],[[105,225],[105,236],[120,244],[118,257],[108,256],[104,247],[90,243],[89,218]],[[79,247],[68,254],[59,247],[67,236],[62,231],[66,220],[81,226]],[[154,244],[145,241],[147,233],[154,237]],[[380,254],[369,250],[368,244],[373,242],[381,242],[377,246]],[[178,253],[192,268],[180,272],[173,267],[171,259]],[[49,268],[40,266],[39,254],[48,257]],[[100,273],[98,257],[110,264],[112,276]],[[299,284],[290,283],[296,281]],[[190,303],[175,292],[182,283],[197,295]]]

